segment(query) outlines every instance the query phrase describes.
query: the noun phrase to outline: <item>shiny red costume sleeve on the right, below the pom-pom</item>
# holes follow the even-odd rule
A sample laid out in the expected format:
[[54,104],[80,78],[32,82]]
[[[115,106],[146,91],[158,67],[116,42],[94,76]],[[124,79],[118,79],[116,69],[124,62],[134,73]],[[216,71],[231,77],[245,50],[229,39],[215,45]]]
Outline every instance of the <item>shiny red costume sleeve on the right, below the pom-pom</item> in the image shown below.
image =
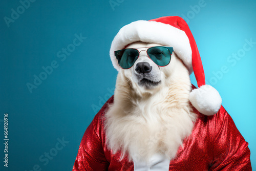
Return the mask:
[[215,122],[215,139],[210,170],[252,170],[248,143],[223,106],[211,121]]

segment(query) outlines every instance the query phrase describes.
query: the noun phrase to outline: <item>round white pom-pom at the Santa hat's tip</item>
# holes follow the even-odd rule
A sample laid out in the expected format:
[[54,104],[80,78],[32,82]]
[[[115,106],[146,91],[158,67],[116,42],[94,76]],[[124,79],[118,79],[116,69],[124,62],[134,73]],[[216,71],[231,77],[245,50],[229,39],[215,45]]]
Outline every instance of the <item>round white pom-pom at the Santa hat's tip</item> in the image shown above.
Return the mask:
[[216,114],[222,103],[219,92],[209,85],[192,90],[189,100],[200,113],[207,116]]

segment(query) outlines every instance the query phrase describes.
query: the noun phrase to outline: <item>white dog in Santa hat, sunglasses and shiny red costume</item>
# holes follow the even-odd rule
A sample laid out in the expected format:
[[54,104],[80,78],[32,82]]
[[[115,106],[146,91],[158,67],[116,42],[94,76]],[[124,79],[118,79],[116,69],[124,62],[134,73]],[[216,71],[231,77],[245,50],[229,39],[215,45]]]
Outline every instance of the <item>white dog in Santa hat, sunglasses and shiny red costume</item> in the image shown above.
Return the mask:
[[205,84],[184,19],[125,25],[110,57],[118,71],[114,96],[84,133],[73,171],[251,170],[248,143]]

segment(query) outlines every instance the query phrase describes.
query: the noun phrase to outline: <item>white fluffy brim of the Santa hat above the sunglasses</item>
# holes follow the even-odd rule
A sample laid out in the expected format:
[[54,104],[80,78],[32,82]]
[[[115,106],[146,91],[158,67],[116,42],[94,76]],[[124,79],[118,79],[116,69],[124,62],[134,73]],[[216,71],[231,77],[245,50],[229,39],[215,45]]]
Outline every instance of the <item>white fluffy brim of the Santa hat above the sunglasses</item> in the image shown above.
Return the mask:
[[131,24],[125,25],[115,36],[110,48],[110,57],[113,66],[117,71],[120,70],[114,51],[123,49],[132,42],[154,42],[174,48],[175,53],[184,62],[189,73],[193,72],[192,68],[192,51],[189,39],[186,33],[176,27],[163,24],[160,22],[149,22],[146,20],[138,20]]

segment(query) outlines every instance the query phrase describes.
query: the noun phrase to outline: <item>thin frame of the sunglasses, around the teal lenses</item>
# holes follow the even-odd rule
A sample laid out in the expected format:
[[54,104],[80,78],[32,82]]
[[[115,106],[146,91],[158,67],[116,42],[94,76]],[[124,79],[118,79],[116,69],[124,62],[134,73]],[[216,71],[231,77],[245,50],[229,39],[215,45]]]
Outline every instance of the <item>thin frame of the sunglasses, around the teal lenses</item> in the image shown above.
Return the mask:
[[[147,55],[147,57],[148,58],[150,58],[150,56],[147,54],[147,50],[148,49],[150,49],[150,48],[157,48],[157,47],[163,47],[163,48],[167,48],[168,49],[168,51],[170,52],[170,59],[172,59],[172,54],[173,54],[173,52],[174,52],[174,48],[173,47],[168,47],[168,46],[152,46],[152,47],[143,47],[144,49],[145,48],[147,48],[147,49],[145,49],[145,50],[141,50],[141,51],[146,51],[146,55]],[[137,50],[138,51],[138,57],[137,57],[137,59],[140,57],[140,52],[141,51],[139,51],[138,49],[142,49],[142,48],[127,48],[127,49],[135,49],[135,50]],[[117,59],[117,63],[118,63],[118,65],[119,65],[119,62],[118,62],[118,53],[120,52],[120,51],[123,51],[123,50],[125,50],[125,49],[121,49],[121,50],[117,50],[117,51],[115,51],[114,53],[115,53],[115,57],[116,57],[116,59]],[[136,59],[136,60],[137,60]],[[135,60],[135,61],[136,61]],[[151,58],[150,58],[150,60],[152,60]],[[153,60],[152,60],[153,61]],[[153,61],[154,62],[154,61]],[[135,63],[135,62],[134,62]],[[130,67],[130,68],[132,68],[133,66],[134,66],[134,63],[133,63],[133,65]],[[154,62],[154,63],[156,63],[156,62]],[[167,63],[167,65],[169,65],[169,63],[170,63],[170,61]],[[157,65],[157,64],[156,64]],[[167,65],[165,65],[165,66],[167,66]],[[165,66],[159,66],[159,65],[157,65],[158,67],[165,67]],[[127,70],[127,69],[130,69],[130,68],[122,68],[120,65],[119,65],[119,67],[121,68],[121,69],[123,69],[123,70]]]

